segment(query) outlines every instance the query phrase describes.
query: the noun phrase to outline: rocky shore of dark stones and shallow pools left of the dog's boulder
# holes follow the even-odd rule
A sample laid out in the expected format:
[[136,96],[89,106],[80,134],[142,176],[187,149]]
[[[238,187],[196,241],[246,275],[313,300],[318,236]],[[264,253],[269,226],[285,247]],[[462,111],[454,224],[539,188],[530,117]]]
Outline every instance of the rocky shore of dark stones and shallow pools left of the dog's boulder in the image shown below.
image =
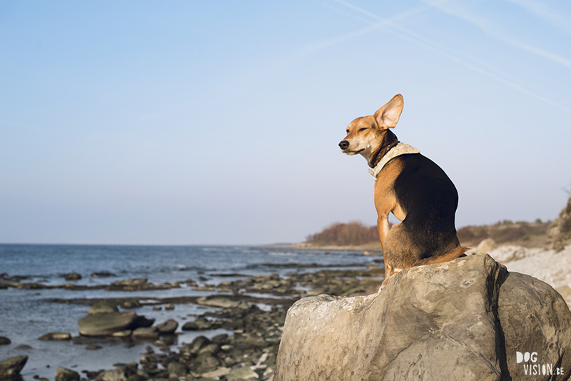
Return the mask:
[[[234,268],[163,283],[111,281],[117,278],[111,272],[60,273],[59,283],[4,273],[0,298],[2,293],[54,295],[41,298],[41,305],[77,318],[63,325],[55,321],[56,329],[31,340],[1,331],[0,370],[24,380],[271,380],[290,305],[321,293],[375,293],[384,275],[382,259],[362,252],[311,252],[310,260],[317,256],[321,264],[295,258],[307,252],[294,250],[294,260],[276,253],[287,258],[266,263],[276,273],[247,276],[243,273],[251,270]],[[34,324],[25,318],[23,323]],[[125,350],[130,358],[119,354]],[[65,363],[55,360],[58,351],[81,355]],[[101,364],[94,360],[104,352],[107,358],[111,353],[111,362],[89,367]],[[113,352],[120,360],[113,362]]]

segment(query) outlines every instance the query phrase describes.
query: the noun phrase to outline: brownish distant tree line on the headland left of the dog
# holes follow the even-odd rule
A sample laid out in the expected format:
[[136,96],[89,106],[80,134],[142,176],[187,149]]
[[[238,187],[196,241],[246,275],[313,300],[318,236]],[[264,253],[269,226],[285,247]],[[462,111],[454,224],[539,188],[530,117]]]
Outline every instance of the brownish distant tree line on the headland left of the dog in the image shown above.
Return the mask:
[[365,226],[360,222],[333,223],[327,228],[308,235],[305,242],[314,245],[363,245],[379,242],[379,232],[376,226]]

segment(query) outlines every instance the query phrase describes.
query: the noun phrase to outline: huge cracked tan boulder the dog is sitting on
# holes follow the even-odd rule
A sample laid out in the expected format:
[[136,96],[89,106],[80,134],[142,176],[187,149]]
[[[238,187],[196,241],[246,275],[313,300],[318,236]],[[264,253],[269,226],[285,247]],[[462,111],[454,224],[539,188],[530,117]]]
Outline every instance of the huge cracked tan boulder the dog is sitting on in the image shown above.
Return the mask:
[[397,273],[373,295],[298,300],[288,310],[273,380],[530,375],[570,377],[570,310],[547,283],[477,254]]

